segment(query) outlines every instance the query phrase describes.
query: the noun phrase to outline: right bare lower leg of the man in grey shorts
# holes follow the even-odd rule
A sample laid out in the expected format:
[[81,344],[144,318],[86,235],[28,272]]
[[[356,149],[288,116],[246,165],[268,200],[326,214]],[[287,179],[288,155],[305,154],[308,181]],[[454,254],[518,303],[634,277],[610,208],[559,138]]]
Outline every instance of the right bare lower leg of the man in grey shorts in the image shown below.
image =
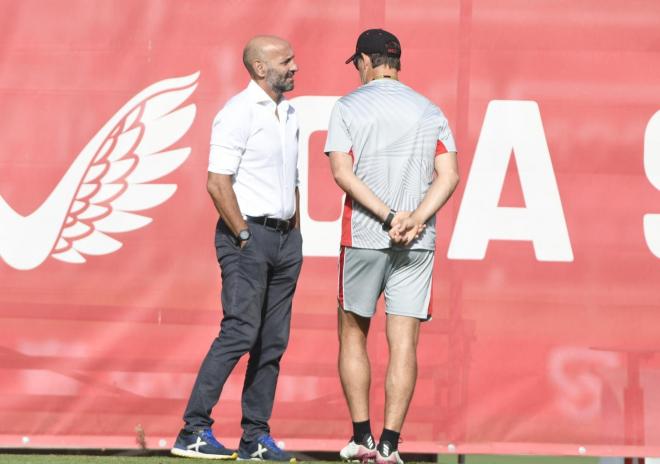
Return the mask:
[[[390,360],[385,380],[384,428],[400,432],[417,380],[419,319],[387,315]],[[395,445],[396,446],[396,445]]]

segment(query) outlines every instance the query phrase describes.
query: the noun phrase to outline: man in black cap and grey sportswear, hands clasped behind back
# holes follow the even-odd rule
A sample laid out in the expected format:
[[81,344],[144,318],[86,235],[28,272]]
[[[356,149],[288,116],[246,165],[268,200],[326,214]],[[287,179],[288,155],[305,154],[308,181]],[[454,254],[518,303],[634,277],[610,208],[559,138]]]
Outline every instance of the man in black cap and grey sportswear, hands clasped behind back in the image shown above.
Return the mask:
[[[458,183],[447,118],[399,82],[401,44],[364,31],[352,62],[362,86],[339,99],[325,152],[346,192],[339,257],[339,376],[353,421],[344,460],[402,464],[399,434],[417,378],[420,322],[430,319],[435,213]],[[369,323],[385,294],[389,362],[385,423],[369,421]]]

